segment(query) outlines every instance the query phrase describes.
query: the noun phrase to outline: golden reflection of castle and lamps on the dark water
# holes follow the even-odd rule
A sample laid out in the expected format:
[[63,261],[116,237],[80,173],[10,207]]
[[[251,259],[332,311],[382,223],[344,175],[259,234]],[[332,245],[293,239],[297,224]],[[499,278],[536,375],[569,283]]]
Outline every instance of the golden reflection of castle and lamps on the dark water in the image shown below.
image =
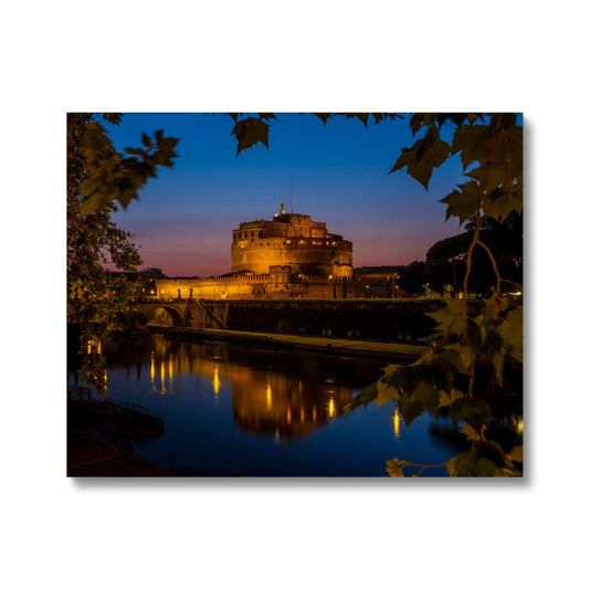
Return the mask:
[[111,366],[127,365],[129,354],[134,362],[147,356],[150,392],[160,396],[179,393],[176,386],[180,378],[200,377],[209,382],[215,401],[224,392],[231,393],[234,423],[248,432],[273,435],[276,441],[307,435],[329,423],[354,397],[351,383],[344,383],[305,354],[256,350],[254,362],[243,350],[235,356],[225,344],[170,341],[162,336],[151,336],[144,344],[143,353],[137,349],[140,344],[134,349],[125,347],[119,355],[112,350]]

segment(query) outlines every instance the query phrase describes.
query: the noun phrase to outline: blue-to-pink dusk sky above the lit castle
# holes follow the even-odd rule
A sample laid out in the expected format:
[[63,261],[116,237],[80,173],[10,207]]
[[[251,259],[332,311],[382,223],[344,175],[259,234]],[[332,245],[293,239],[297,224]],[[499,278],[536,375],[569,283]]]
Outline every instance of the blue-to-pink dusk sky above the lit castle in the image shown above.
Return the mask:
[[351,241],[356,267],[424,260],[433,243],[461,231],[457,220],[445,222],[439,202],[463,181],[457,157],[434,170],[428,190],[406,169],[388,173],[414,140],[408,115],[370,119],[368,128],[356,118],[324,125],[312,114],[276,117],[269,148],[259,143],[239,157],[225,114],[127,113],[118,126],[107,125],[119,150],[140,146],[143,132],[180,139],[173,168],[159,168],[139,200],[115,215],[139,246],[143,267],[168,276],[230,272],[232,230],[272,219],[280,201],[290,212],[291,179],[293,211]]

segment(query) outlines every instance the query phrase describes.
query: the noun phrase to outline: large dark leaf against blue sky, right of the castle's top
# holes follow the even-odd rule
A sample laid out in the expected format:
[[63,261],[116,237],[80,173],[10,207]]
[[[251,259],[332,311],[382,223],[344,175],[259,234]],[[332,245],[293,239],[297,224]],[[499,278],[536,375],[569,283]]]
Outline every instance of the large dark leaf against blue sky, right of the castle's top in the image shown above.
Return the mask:
[[407,166],[407,173],[423,185],[425,190],[433,168],[440,167],[450,156],[450,146],[439,138],[434,128],[429,128],[422,139],[418,139],[412,147],[403,148],[401,155],[389,173]]

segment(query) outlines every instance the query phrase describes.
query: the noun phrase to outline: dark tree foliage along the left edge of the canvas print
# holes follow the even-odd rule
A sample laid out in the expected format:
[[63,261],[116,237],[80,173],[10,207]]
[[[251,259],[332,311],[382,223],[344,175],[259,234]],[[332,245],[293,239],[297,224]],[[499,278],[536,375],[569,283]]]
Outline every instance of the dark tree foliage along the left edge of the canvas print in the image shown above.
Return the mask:
[[146,149],[127,148],[135,155],[125,158],[99,123],[119,119],[119,115],[67,115],[67,323],[81,334],[82,377],[97,390],[105,386],[102,344],[117,327],[117,316],[127,309],[135,290],[105,266],[134,272],[141,263],[130,234],[112,219],[118,209],[115,201],[126,206],[137,198],[156,167],[172,157],[172,140],[156,132],[155,147],[146,145],[150,139],[144,134]]

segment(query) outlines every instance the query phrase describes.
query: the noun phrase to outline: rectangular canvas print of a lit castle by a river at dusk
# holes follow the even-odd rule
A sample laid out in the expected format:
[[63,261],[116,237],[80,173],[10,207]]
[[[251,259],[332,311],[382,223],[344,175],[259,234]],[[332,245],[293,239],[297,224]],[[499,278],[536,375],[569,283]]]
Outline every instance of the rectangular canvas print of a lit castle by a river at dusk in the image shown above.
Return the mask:
[[523,476],[523,124],[69,113],[67,476]]

